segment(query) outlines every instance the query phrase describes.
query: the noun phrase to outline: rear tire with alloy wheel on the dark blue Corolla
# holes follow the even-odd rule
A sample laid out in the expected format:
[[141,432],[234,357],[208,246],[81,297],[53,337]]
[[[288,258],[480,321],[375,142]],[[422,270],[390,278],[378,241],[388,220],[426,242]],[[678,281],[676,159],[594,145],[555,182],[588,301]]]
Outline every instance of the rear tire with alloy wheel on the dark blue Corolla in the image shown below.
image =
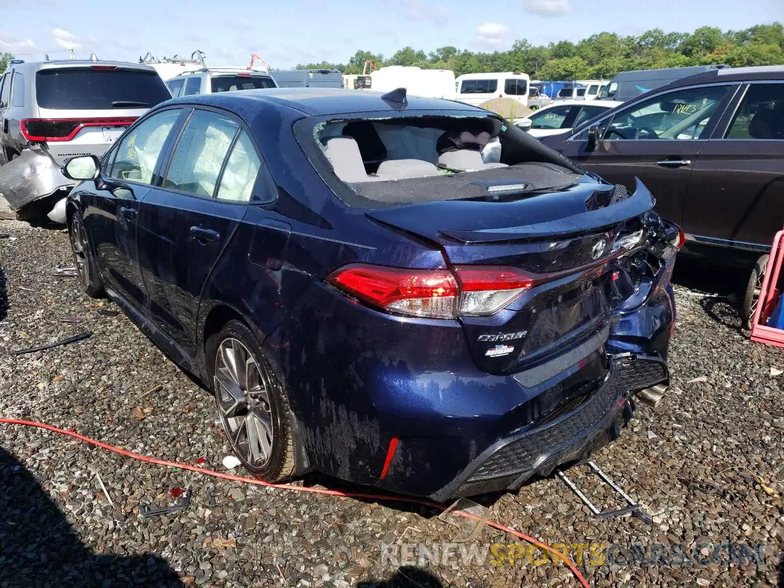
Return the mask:
[[[234,388],[238,394],[241,393],[240,395],[244,397],[244,405],[235,403],[238,408],[235,408],[236,412],[233,413],[227,411],[227,405],[235,397],[229,393],[224,384],[220,383],[219,379],[228,383],[233,380],[236,384],[242,377],[234,378],[236,374],[233,376],[231,373],[231,362],[226,361],[224,355],[226,353],[234,357],[234,365],[241,363],[236,360],[241,358],[243,354],[247,354],[249,358],[245,361],[245,387],[241,390],[240,387]],[[289,408],[289,399],[264,358],[256,336],[240,321],[229,321],[220,332],[207,339],[205,357],[207,358],[209,386],[215,394],[218,416],[223,423],[223,430],[226,432],[234,455],[245,466],[245,469],[264,481],[280,482],[292,477],[296,465],[296,453],[292,426],[293,416]],[[249,367],[251,365],[250,358],[253,361],[252,367]],[[249,375],[255,373],[256,369],[257,379],[256,376]],[[216,377],[216,373],[219,373],[220,378]],[[258,386],[253,385],[256,381],[259,383]],[[251,390],[250,393],[249,390]],[[252,418],[249,416],[251,413]],[[234,416],[230,416],[230,414]],[[270,449],[263,459],[254,459],[250,449],[249,428],[251,425],[249,422],[260,423],[260,415],[263,415],[265,426],[270,426],[271,439],[267,439]],[[267,418],[269,419],[268,423]],[[254,430],[256,430],[255,438],[260,439],[263,433],[260,432],[258,425]],[[260,452],[264,452],[261,442],[256,444],[256,448]]]

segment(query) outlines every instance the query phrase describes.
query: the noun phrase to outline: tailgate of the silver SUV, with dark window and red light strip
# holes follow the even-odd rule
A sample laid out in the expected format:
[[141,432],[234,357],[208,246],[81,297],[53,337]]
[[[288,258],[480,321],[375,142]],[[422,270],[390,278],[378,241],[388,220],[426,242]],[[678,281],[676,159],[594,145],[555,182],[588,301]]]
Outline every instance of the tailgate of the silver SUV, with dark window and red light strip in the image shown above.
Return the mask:
[[21,121],[31,142],[45,142],[58,163],[99,157],[150,107],[171,95],[152,68],[112,64],[44,66],[35,73],[37,114]]

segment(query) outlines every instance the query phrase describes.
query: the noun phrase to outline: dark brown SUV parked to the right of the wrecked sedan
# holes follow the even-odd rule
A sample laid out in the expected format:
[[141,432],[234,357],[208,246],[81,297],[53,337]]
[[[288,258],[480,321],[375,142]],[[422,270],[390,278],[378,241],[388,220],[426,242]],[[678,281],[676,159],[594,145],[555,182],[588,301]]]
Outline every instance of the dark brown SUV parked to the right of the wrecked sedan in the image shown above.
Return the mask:
[[542,142],[608,182],[639,177],[692,245],[767,252],[784,225],[784,66],[692,75]]

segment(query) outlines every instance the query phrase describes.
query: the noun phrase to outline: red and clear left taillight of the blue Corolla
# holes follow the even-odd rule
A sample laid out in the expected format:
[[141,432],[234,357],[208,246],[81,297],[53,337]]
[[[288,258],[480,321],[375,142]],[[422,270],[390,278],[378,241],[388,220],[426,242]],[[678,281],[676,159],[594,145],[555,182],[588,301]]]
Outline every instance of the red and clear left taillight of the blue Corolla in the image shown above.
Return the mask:
[[353,263],[327,278],[365,303],[409,317],[484,317],[509,306],[533,285],[516,267],[456,266],[419,270]]

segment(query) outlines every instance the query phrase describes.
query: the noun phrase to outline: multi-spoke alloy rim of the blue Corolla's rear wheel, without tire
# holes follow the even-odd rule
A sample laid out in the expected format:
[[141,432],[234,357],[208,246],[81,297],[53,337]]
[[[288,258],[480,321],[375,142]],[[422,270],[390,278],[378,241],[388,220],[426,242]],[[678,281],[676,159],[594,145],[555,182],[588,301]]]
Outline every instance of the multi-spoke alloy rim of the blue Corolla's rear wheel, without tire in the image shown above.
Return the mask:
[[235,454],[252,469],[267,465],[274,428],[270,379],[241,341],[229,337],[218,346],[215,397],[223,428]]

